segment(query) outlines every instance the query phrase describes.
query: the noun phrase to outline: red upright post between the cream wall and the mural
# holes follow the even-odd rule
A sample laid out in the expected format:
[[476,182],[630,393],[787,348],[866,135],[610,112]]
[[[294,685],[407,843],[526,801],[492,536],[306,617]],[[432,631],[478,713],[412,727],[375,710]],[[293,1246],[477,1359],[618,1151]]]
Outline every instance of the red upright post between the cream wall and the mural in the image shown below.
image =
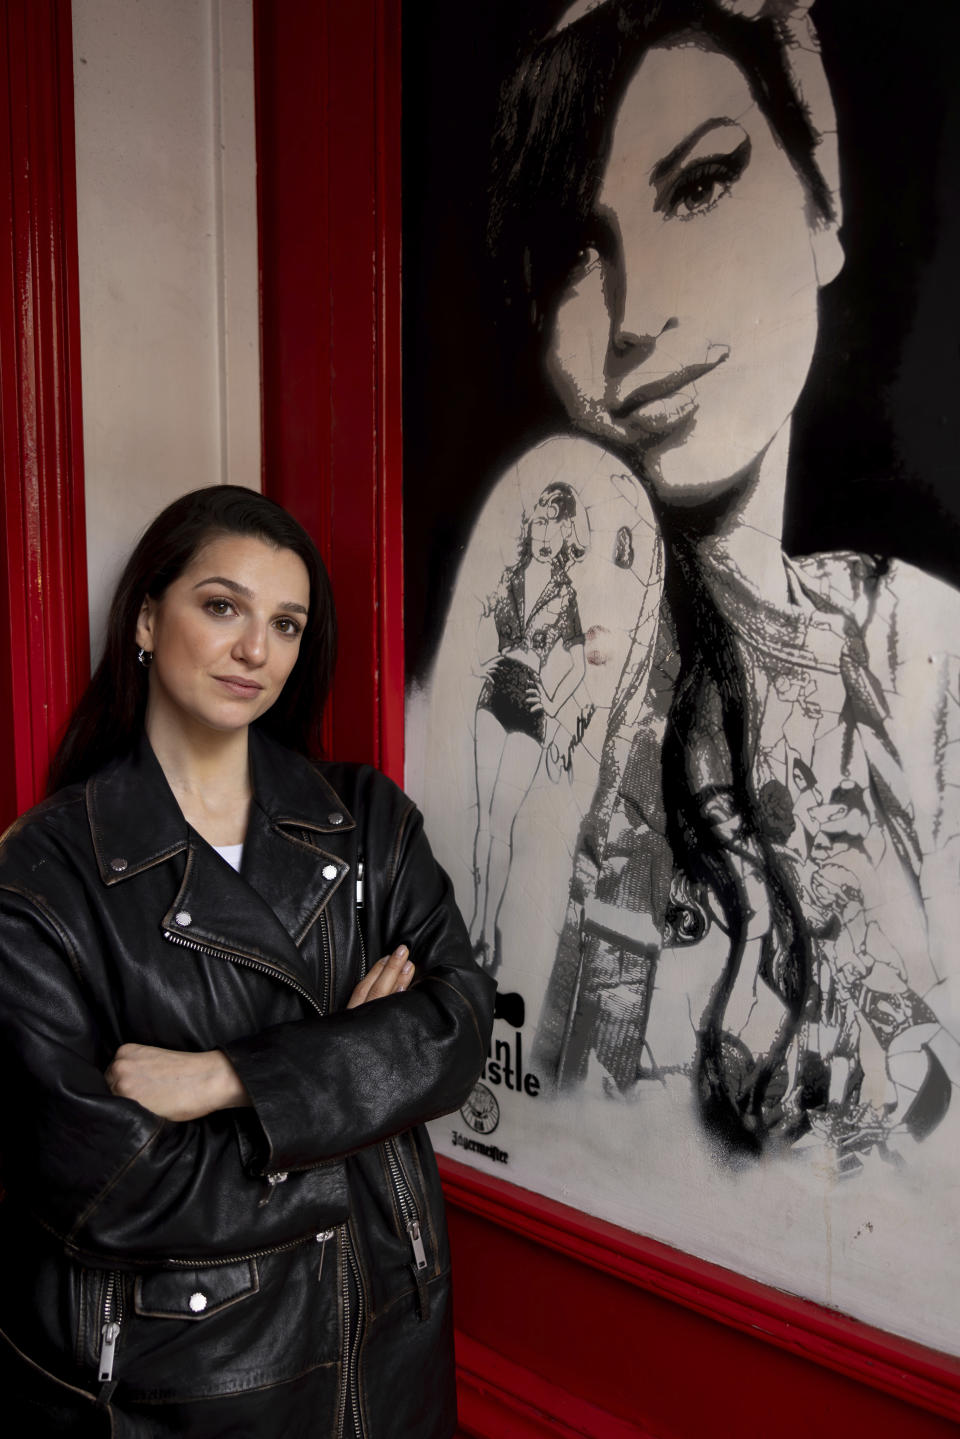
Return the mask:
[[327,744],[403,777],[400,6],[255,3],[263,492],[327,560]]

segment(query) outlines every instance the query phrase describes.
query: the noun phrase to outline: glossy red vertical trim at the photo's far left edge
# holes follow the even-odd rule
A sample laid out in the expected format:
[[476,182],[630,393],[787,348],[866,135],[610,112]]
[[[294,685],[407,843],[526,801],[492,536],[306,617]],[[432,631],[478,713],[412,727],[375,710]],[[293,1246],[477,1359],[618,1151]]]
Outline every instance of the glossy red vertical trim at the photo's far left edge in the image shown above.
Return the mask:
[[88,676],[69,0],[0,12],[0,819],[43,790]]

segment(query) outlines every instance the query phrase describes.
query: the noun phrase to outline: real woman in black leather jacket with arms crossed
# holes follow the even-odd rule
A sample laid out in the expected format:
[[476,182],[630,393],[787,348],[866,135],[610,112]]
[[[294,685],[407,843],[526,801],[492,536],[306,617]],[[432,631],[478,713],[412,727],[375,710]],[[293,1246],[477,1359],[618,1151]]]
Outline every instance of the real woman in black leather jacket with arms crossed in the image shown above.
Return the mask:
[[422,1121],[469,1092],[492,986],[410,802],[309,758],[334,652],[299,525],[186,495],[127,564],[55,793],[4,839],[23,1426],[453,1433]]

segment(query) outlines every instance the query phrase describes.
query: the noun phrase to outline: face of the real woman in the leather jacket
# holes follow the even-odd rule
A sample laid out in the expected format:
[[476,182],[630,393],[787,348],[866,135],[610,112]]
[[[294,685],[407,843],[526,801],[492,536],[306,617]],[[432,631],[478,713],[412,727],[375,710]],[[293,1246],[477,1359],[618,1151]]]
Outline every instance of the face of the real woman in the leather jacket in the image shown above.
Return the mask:
[[307,566],[250,535],[204,544],[160,600],[144,600],[137,643],[153,650],[148,724],[240,730],[276,701],[309,609]]

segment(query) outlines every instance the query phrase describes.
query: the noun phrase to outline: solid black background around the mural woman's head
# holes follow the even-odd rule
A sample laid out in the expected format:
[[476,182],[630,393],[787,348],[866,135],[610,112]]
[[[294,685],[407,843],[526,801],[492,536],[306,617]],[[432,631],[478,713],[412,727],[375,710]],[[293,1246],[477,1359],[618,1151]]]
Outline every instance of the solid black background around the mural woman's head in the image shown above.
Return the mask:
[[[564,429],[488,262],[502,76],[566,0],[407,0],[404,544],[423,676],[499,471]],[[794,414],[786,547],[898,555],[960,584],[960,4],[818,0],[846,265]]]

